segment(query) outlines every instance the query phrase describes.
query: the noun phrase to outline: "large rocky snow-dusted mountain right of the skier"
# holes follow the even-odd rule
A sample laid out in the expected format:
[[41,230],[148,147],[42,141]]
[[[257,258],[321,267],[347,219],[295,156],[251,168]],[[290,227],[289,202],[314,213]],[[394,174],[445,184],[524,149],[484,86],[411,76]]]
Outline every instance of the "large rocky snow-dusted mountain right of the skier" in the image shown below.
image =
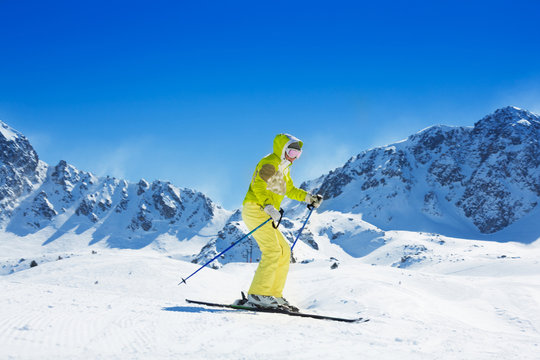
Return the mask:
[[302,187],[324,195],[322,211],[362,214],[385,230],[534,241],[540,117],[506,107],[473,127],[432,126],[364,151]]

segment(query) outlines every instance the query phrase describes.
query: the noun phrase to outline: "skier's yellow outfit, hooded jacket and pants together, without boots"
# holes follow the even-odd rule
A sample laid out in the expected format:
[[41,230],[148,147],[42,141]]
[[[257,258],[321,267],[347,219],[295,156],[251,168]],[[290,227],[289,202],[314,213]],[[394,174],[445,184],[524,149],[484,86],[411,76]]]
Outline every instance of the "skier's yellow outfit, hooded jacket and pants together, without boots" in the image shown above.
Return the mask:
[[[292,143],[303,143],[288,134],[279,134],[274,139],[274,152],[265,156],[255,168],[249,190],[243,202],[242,219],[251,231],[268,219],[266,205],[279,210],[283,198],[304,201],[307,192],[294,186],[290,176],[291,162],[285,159],[285,150]],[[272,222],[266,223],[253,233],[261,249],[261,261],[253,277],[249,294],[282,297],[291,250],[285,237]]]

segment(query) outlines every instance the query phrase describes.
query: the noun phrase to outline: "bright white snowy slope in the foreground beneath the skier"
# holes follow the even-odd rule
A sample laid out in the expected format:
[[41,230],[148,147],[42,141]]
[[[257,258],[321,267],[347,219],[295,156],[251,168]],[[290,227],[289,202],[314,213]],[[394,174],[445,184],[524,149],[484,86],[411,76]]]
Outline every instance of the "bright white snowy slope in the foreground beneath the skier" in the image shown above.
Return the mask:
[[[17,245],[0,237],[2,264],[19,260]],[[331,259],[291,264],[289,301],[371,319],[363,324],[187,304],[232,302],[257,264],[206,268],[179,286],[199,265],[150,247],[98,245],[68,257],[65,247],[62,259],[50,252],[0,277],[0,358],[537,359],[540,350],[538,241],[396,231],[367,256],[342,256],[336,269]],[[429,256],[397,267],[405,245]]]

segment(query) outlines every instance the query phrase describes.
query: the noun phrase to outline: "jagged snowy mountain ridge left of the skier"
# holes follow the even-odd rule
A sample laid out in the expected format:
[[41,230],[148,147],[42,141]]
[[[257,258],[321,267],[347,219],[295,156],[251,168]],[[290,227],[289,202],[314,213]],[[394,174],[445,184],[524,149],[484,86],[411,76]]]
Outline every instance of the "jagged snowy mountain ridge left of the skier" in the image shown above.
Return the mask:
[[8,233],[43,232],[43,245],[84,234],[90,245],[170,250],[203,229],[215,234],[231,215],[206,195],[169,182],[97,177],[65,161],[48,166],[26,137],[4,123],[0,129],[0,226]]

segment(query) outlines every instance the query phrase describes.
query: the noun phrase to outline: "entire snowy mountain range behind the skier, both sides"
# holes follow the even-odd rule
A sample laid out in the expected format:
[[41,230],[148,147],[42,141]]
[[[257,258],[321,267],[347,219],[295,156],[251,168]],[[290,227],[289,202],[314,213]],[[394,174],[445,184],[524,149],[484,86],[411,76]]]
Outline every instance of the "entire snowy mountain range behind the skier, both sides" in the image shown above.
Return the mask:
[[[150,246],[204,263],[247,231],[238,210],[223,209],[195,190],[96,177],[65,161],[48,166],[22,134],[0,125],[5,236],[49,248]],[[303,230],[294,258],[363,257],[391,241],[391,230],[532,242],[540,237],[539,140],[540,117],[506,107],[472,127],[433,126],[364,151],[302,184],[326,200]],[[296,202],[284,207],[282,231],[292,242],[307,210]],[[403,256],[417,245],[407,244]],[[248,238],[213,266],[259,258]]]

